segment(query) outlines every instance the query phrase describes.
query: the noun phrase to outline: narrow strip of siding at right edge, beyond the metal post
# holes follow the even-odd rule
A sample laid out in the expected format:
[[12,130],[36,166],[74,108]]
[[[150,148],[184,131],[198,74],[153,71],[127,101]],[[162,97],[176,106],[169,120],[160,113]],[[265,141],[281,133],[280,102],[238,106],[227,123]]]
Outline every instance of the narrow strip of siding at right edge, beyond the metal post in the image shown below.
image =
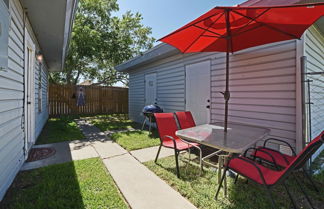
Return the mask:
[[[316,27],[311,27],[305,35],[304,43],[304,53],[307,57],[306,72],[324,72],[324,35]],[[310,97],[313,103],[311,105],[311,137],[314,138],[324,130],[324,75],[307,75],[306,79],[312,80],[310,83]],[[307,98],[306,101],[308,101]],[[309,128],[310,124],[307,125]],[[315,156],[323,149],[324,146]]]

